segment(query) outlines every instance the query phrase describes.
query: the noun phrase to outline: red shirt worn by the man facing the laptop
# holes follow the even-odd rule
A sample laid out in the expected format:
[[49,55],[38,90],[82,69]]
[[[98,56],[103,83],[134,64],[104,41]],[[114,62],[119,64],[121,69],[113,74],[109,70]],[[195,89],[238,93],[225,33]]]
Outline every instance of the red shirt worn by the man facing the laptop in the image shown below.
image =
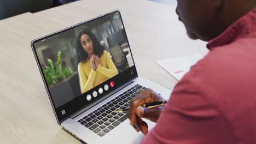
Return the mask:
[[256,143],[256,9],[207,47],[142,143]]

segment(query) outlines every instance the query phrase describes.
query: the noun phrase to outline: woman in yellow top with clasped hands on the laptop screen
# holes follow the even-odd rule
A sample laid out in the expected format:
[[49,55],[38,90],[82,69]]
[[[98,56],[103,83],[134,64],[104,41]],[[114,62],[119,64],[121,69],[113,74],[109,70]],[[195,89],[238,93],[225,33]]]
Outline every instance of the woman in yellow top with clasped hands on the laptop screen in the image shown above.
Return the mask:
[[79,62],[78,74],[82,93],[118,74],[109,53],[88,29],[78,33],[75,49]]

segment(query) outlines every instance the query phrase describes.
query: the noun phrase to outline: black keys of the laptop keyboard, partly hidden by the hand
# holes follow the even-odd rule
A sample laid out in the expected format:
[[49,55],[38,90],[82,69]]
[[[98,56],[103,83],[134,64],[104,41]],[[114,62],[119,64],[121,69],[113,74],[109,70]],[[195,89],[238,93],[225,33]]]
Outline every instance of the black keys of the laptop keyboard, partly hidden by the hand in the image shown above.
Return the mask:
[[125,115],[126,112],[117,113],[115,110],[129,107],[130,100],[135,97],[140,89],[147,88],[141,85],[135,85],[114,99],[108,101],[97,110],[80,118],[78,122],[94,131],[94,133],[99,136],[107,134],[110,130],[114,129],[127,119],[127,116]]

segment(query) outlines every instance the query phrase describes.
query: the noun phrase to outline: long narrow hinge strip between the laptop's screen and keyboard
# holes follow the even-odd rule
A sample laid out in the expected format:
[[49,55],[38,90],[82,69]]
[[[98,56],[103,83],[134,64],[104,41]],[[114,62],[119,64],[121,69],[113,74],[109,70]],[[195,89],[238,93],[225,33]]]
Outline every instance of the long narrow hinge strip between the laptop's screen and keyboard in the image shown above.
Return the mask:
[[120,86],[119,88],[115,89],[113,92],[110,92],[109,94],[105,95],[104,97],[102,97],[101,99],[98,99],[96,101],[94,101],[94,103],[90,104],[89,106],[84,107],[83,109],[79,110],[78,112],[75,112],[73,115],[70,116],[70,118],[75,118],[77,116],[79,116],[81,113],[85,112],[86,110],[89,110],[91,107],[94,107],[95,105],[97,105],[98,103],[100,103],[101,101],[103,101],[104,99],[107,99],[108,97],[110,97],[111,95],[119,92],[121,89],[123,89],[124,87],[130,85],[131,83],[133,83],[133,80],[126,82],[124,85]]

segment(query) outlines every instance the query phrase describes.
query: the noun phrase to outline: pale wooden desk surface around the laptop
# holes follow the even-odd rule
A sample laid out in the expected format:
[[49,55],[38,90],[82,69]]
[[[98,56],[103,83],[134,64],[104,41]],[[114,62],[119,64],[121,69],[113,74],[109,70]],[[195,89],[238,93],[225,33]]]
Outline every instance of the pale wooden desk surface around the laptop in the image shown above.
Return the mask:
[[177,81],[155,61],[197,52],[171,5],[150,1],[78,1],[0,21],[0,143],[79,143],[57,124],[30,43],[33,39],[119,9],[138,74],[173,88]]

